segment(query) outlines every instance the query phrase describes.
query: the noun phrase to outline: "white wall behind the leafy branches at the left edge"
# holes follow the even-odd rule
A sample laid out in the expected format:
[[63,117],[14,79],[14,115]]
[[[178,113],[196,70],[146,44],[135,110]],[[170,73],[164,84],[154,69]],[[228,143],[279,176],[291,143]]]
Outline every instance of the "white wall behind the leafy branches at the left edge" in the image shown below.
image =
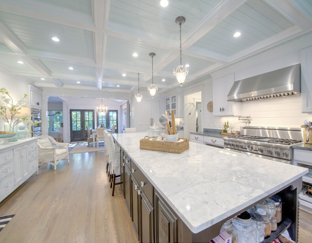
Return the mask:
[[[30,103],[28,84],[29,82],[0,69],[0,88],[6,88],[15,102],[27,94],[28,97],[26,97],[25,102]],[[5,122],[0,117],[0,131],[3,131],[4,124]],[[28,136],[31,137],[30,134]]]

